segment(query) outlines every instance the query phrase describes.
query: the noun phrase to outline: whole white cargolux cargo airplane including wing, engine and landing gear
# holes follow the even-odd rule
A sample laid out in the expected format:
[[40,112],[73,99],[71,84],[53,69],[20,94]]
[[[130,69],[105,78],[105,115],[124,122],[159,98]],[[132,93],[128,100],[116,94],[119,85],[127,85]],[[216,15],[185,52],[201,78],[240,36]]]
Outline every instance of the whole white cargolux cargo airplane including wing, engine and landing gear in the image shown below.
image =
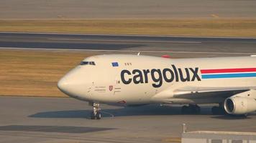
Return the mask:
[[101,119],[101,103],[182,104],[184,114],[198,114],[198,104],[219,104],[213,114],[247,115],[256,111],[256,56],[96,55],[65,74],[58,89],[88,102],[91,119]]

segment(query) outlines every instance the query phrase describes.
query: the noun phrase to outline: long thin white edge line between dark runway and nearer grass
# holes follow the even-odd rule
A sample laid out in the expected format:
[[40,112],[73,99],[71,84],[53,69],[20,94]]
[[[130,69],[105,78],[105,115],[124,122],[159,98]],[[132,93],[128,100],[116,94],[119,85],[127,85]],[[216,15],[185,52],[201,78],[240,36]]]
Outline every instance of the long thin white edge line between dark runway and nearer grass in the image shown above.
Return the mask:
[[30,49],[30,50],[62,50],[62,51],[111,51],[111,52],[144,52],[144,53],[175,53],[175,54],[243,54],[255,55],[256,53],[241,52],[210,52],[210,51],[145,51],[145,50],[112,50],[112,49],[52,49],[52,48],[19,48],[19,47],[0,47],[0,49]]

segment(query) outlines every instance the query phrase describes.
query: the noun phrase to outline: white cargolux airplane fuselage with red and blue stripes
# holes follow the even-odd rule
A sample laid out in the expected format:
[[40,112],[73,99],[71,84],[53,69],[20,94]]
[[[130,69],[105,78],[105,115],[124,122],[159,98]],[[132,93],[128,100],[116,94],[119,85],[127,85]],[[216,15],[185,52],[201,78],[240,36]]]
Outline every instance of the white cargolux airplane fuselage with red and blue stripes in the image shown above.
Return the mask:
[[256,57],[250,56],[167,59],[112,54],[83,61],[85,64],[60,79],[58,87],[68,96],[88,102],[150,104],[168,99],[173,104],[219,103],[224,99],[177,99],[173,92],[184,87],[256,87]]

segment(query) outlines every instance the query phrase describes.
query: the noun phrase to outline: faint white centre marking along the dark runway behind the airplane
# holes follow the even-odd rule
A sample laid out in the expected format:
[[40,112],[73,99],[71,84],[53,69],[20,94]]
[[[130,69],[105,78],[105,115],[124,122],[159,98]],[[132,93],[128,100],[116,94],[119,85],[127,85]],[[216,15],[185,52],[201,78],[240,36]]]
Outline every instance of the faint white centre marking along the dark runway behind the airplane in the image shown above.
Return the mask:
[[122,41],[122,42],[147,42],[147,43],[182,43],[182,44],[201,44],[201,41],[151,41],[151,40],[110,40],[110,39],[67,39],[67,38],[48,38],[48,40],[62,41]]

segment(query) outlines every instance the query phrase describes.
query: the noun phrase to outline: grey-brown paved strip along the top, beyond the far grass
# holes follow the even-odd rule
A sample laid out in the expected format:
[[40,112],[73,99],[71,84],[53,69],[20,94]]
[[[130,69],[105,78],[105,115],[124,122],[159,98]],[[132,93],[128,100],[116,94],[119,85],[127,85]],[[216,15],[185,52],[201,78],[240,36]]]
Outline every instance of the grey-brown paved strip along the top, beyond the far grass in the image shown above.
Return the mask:
[[252,0],[5,0],[0,19],[255,18]]

